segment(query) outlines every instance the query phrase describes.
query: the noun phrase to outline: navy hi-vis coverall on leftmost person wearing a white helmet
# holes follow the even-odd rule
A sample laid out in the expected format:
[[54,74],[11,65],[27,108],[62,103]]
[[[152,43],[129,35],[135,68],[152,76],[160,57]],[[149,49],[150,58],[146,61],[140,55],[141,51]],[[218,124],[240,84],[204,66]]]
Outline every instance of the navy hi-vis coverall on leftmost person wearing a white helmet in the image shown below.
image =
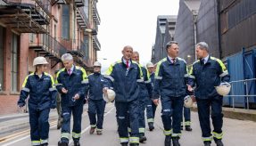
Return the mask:
[[25,100],[29,96],[29,124],[32,145],[48,143],[48,118],[50,109],[56,107],[56,95],[54,77],[45,72],[42,77],[32,73],[23,82],[18,105],[24,106]]

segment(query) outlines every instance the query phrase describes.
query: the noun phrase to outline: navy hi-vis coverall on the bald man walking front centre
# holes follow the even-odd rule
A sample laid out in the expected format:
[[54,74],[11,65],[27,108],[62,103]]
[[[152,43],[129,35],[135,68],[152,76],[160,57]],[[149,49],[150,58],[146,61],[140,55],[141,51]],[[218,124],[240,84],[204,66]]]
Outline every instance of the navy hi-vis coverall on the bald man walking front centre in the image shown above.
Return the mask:
[[[108,87],[113,87],[116,93],[115,106],[120,142],[139,143],[138,96],[139,85],[144,82],[143,73],[136,62],[130,61],[130,66],[127,68],[122,60],[111,64],[105,77],[110,83]],[[131,128],[130,137],[128,126]]]

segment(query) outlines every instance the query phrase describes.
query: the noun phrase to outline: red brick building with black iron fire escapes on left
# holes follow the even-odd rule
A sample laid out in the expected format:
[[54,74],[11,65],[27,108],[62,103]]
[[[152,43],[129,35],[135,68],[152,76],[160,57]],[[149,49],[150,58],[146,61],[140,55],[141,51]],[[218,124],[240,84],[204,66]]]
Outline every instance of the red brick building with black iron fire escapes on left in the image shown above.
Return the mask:
[[61,56],[92,69],[101,45],[96,37],[97,0],[0,0],[0,115],[17,112],[24,78],[32,61],[45,56],[49,73],[62,68]]

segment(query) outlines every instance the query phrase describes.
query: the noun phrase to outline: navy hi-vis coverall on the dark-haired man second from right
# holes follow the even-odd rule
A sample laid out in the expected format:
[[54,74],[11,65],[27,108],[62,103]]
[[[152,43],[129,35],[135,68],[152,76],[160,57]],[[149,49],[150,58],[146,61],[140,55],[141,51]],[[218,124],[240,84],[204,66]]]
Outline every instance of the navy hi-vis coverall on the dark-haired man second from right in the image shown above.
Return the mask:
[[177,58],[172,63],[166,57],[157,64],[153,98],[158,99],[161,95],[161,118],[164,134],[171,135],[171,137],[181,135],[180,123],[186,96],[187,77],[186,61],[183,59]]

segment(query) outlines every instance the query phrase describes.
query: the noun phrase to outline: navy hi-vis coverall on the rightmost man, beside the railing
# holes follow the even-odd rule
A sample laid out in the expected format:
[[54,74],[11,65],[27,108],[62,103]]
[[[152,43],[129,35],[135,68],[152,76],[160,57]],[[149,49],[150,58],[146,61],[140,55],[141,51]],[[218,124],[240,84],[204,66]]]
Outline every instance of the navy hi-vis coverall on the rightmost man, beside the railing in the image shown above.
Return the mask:
[[[227,69],[222,61],[209,57],[203,61],[195,61],[190,70],[189,85],[196,85],[194,95],[196,97],[203,142],[211,142],[214,139],[222,139],[222,102],[223,98],[215,89],[221,82],[229,82]],[[210,107],[213,132],[211,134]]]

